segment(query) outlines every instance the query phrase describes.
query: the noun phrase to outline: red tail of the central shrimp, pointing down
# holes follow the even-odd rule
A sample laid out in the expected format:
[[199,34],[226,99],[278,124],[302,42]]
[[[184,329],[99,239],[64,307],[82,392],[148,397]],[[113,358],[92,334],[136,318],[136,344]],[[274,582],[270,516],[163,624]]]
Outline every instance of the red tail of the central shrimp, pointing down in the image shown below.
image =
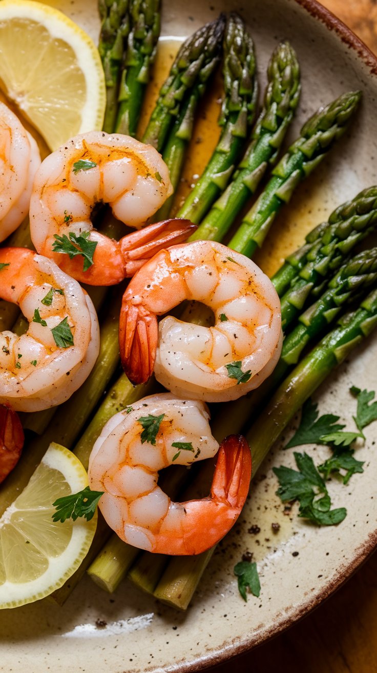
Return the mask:
[[142,306],[122,302],[119,347],[122,367],[130,382],[145,383],[153,373],[158,340],[157,318]]

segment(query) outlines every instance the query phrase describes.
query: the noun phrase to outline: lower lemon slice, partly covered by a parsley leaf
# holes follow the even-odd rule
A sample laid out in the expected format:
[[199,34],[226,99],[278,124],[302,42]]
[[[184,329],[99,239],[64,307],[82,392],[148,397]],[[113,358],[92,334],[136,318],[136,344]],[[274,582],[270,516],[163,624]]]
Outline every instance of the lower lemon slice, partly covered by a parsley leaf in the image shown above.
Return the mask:
[[93,540],[97,515],[89,522],[54,523],[52,503],[87,483],[78,458],[50,444],[30,482],[0,519],[0,608],[48,596],[79,567]]

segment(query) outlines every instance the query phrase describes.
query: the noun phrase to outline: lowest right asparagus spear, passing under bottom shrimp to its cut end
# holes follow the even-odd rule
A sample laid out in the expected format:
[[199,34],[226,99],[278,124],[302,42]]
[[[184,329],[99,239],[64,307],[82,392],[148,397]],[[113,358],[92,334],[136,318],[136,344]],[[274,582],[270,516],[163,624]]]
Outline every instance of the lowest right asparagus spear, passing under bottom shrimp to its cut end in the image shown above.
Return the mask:
[[[358,310],[341,318],[339,325],[293,369],[246,435],[253,457],[253,476],[302,404],[376,326],[377,290],[374,290]],[[234,417],[229,419],[232,431],[234,421]],[[198,557],[173,557],[154,596],[185,610],[213,551],[214,548]]]

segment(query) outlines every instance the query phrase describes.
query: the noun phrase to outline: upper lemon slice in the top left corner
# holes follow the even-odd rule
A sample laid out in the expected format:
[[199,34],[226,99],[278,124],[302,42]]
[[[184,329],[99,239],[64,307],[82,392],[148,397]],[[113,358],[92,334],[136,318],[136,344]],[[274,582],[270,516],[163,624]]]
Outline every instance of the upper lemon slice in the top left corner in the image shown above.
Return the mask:
[[102,128],[106,94],[98,50],[58,9],[1,0],[0,79],[52,150]]

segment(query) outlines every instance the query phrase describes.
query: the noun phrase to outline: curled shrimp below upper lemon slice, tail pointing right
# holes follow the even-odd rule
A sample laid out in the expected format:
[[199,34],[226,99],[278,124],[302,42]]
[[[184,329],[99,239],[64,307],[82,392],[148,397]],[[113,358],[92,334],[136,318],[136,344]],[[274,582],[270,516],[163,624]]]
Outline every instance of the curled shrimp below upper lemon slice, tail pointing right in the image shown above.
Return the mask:
[[32,241],[77,281],[114,285],[161,248],[185,241],[196,227],[167,220],[118,242],[93,229],[93,208],[109,203],[115,217],[138,229],[172,190],[167,166],[151,145],[99,131],[77,135],[46,157],[36,174]]

